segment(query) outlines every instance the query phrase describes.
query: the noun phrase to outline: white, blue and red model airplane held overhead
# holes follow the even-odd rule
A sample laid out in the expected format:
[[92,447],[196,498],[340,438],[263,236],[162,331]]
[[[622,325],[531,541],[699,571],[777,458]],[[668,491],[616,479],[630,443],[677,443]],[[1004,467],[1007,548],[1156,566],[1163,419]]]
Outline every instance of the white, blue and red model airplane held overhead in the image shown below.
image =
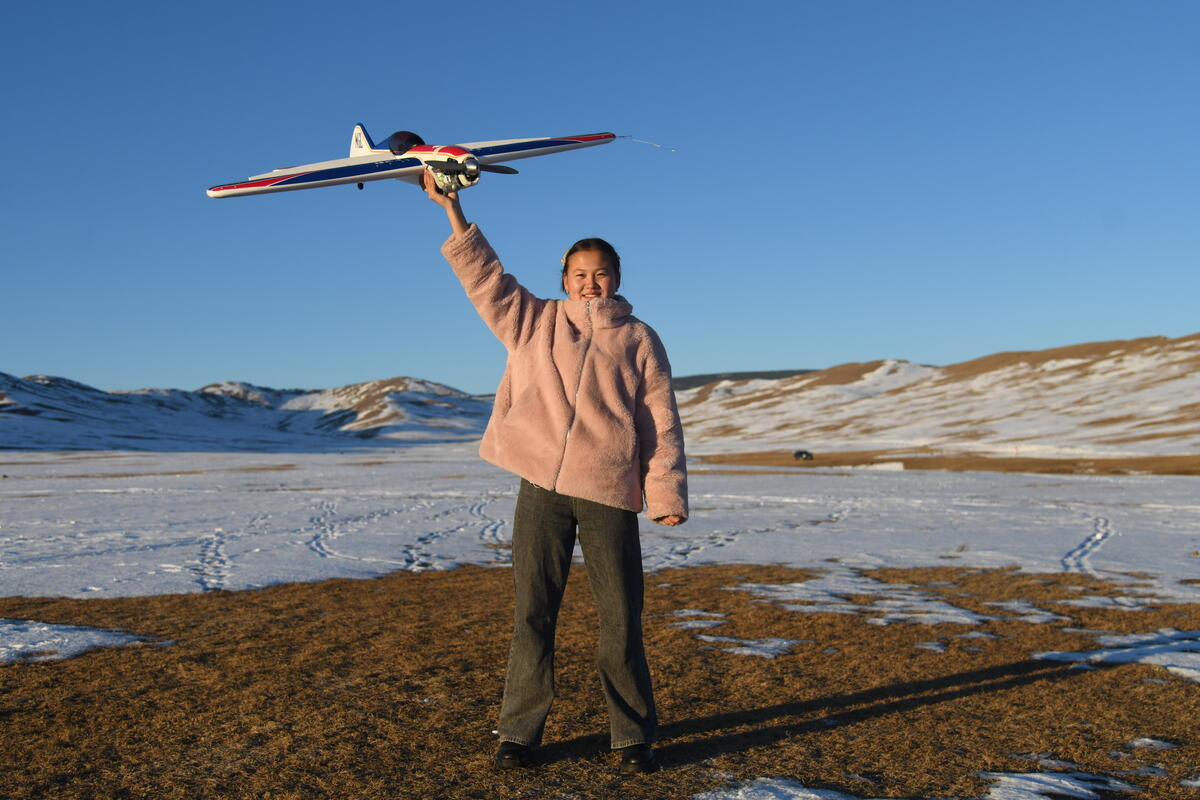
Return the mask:
[[266,194],[340,184],[358,184],[359,188],[362,188],[366,181],[379,181],[385,178],[420,185],[421,173],[426,167],[433,169],[440,191],[457,192],[478,184],[480,173],[516,174],[517,170],[500,167],[499,162],[590,148],[607,144],[616,138],[612,133],[588,133],[558,138],[433,145],[425,144],[415,133],[396,131],[386,142],[376,144],[367,130],[359,124],[354,126],[350,155],[347,158],[318,161],[300,167],[281,167],[236,184],[214,186],[209,190],[209,197]]

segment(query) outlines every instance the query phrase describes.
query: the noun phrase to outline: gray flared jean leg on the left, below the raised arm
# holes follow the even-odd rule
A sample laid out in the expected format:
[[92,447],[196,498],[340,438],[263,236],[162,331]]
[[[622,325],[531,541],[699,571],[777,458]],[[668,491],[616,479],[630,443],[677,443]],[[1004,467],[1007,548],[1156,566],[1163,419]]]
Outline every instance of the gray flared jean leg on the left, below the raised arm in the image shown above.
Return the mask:
[[554,631],[575,549],[570,498],[521,482],[512,522],[512,581],[516,590],[509,650],[502,741],[541,744],[554,700]]

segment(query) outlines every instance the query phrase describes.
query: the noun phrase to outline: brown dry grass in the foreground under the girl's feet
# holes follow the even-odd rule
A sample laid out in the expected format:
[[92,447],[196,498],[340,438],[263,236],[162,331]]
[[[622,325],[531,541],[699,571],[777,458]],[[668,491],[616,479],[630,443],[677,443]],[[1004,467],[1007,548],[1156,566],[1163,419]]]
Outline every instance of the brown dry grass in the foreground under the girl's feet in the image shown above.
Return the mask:
[[[1200,627],[1200,607],[1140,613],[1054,606],[1078,576],[889,570],[997,614],[1026,599],[1078,627]],[[0,616],[120,627],[172,642],[0,668],[0,794],[6,798],[688,798],[732,777],[790,776],[869,796],[978,796],[980,770],[1038,771],[1052,753],[1130,778],[1142,798],[1194,796],[1195,684],[1147,666],[1079,670],[1037,650],[1094,646],[1060,625],[876,626],[760,602],[744,582],[774,566],[666,571],[647,584],[665,769],[614,775],[590,667],[594,622],[575,570],[559,628],[559,694],[541,764],[491,769],[508,648],[511,575],[466,567],[374,581],[126,600],[0,600]],[[708,632],[806,639],[774,660],[706,649],[665,616],[725,613]],[[959,639],[986,631],[1003,638]],[[914,648],[940,639],[947,652]],[[1147,682],[1146,679],[1156,682]],[[1164,682],[1157,682],[1159,679]],[[1130,751],[1136,736],[1182,744]],[[1114,756],[1112,753],[1117,753]]]

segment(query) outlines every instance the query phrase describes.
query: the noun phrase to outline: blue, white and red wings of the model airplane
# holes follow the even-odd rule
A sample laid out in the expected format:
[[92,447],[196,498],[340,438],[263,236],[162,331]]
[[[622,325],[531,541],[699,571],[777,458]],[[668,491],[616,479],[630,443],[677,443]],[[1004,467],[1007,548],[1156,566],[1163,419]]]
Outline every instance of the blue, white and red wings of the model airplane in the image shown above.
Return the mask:
[[[365,184],[388,178],[421,182],[426,161],[438,161],[452,150],[470,151],[481,164],[496,164],[517,158],[532,158],[552,152],[590,148],[607,144],[617,137],[612,133],[587,133],[569,137],[539,137],[533,139],[499,139],[496,142],[472,142],[444,148],[418,145],[398,156],[386,149],[371,149],[367,155],[322,161],[301,167],[282,167],[262,175],[252,175],[244,181],[223,184],[209,188],[209,197],[238,197],[242,194],[268,194],[289,192],[341,184]],[[361,150],[360,150],[361,152]]]

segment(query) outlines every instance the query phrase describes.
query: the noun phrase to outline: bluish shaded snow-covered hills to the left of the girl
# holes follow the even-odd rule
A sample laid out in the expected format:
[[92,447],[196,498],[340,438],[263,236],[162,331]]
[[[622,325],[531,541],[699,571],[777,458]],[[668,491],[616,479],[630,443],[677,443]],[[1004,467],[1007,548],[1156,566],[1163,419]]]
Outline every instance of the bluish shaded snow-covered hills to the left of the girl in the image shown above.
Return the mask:
[[0,449],[336,450],[482,435],[490,398],[414,378],[325,391],[222,383],[104,392],[0,373]]

